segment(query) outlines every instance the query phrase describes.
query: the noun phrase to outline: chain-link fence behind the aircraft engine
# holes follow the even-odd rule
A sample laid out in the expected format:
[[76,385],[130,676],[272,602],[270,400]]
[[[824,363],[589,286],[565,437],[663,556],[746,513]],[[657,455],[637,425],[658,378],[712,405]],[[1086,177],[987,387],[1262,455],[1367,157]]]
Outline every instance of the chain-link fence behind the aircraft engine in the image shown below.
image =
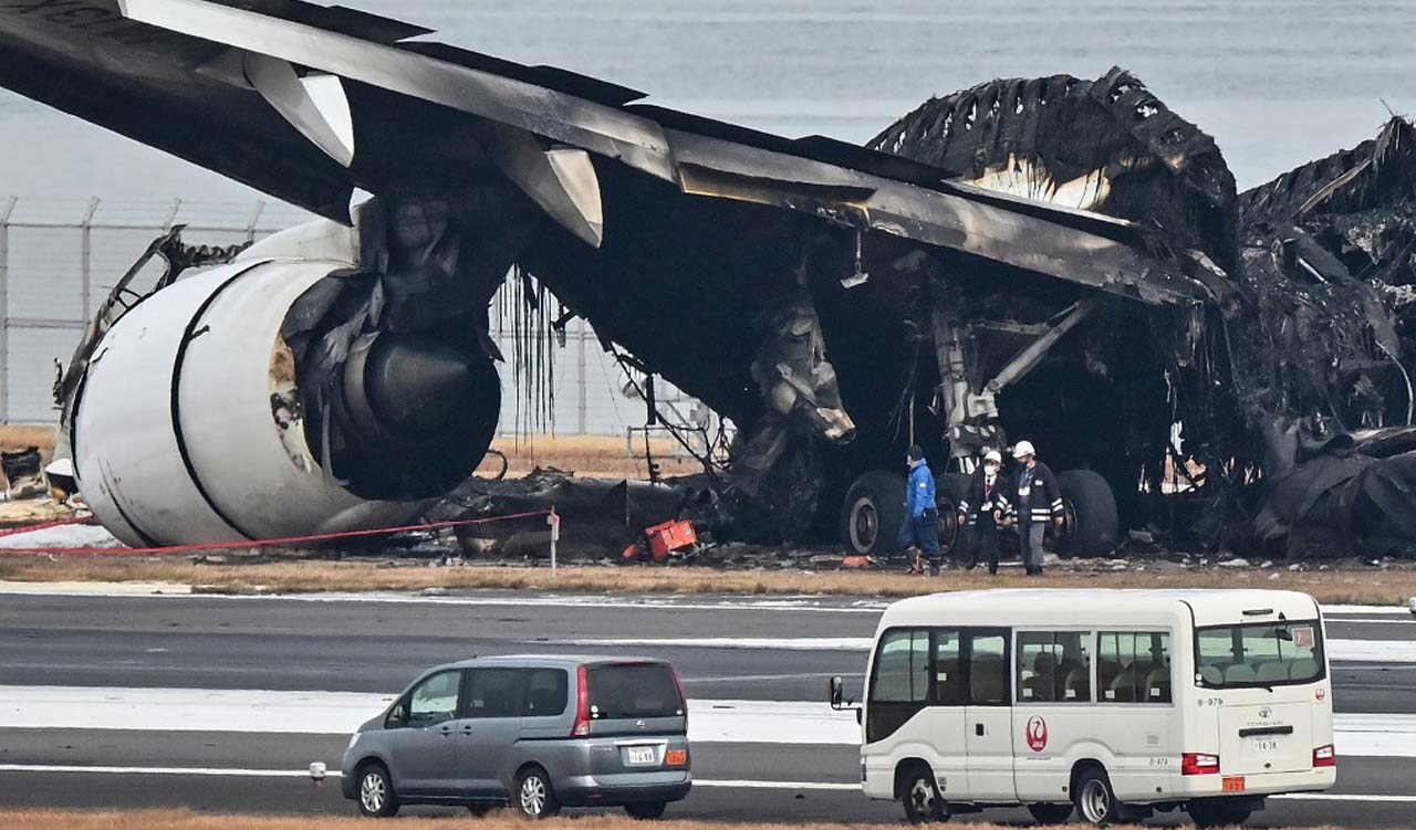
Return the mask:
[[[310,216],[280,204],[47,201],[0,197],[0,423],[55,420],[54,365],[68,363],[95,308],[152,240],[185,225],[191,245],[256,240]],[[150,283],[149,283],[150,284]],[[511,353],[513,332],[500,315],[493,339]],[[506,368],[504,368],[506,369]],[[569,322],[556,348],[551,423],[558,434],[626,436],[644,423],[629,379],[583,320]],[[510,369],[503,372],[501,427],[525,423]],[[661,383],[666,413],[702,411]]]

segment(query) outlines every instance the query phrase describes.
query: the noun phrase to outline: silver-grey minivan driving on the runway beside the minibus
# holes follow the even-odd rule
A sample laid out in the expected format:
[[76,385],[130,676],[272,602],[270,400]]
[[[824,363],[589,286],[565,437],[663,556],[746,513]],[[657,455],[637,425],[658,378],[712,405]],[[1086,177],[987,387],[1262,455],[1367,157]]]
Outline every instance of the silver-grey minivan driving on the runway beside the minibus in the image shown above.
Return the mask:
[[674,669],[622,657],[479,657],[429,669],[344,752],[344,797],[401,805],[623,806],[657,819],[692,785],[688,704]]

